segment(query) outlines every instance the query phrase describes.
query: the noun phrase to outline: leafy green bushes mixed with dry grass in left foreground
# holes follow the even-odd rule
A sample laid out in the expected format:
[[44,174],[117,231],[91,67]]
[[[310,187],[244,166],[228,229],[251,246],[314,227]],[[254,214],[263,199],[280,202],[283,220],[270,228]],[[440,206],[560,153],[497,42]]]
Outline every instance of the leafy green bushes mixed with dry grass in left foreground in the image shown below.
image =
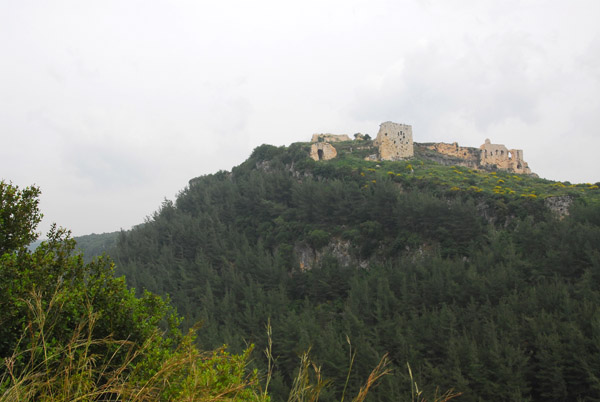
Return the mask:
[[67,231],[27,249],[39,190],[0,190],[0,402],[268,402],[249,351],[200,353],[167,301],[136,297],[108,258],[84,263]]

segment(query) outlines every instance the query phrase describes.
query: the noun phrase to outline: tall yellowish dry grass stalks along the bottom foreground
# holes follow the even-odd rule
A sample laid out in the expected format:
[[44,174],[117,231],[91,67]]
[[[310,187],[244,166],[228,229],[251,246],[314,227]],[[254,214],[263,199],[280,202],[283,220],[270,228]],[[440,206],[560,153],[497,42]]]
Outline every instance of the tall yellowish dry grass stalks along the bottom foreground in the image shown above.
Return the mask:
[[[152,354],[152,345],[158,331],[137,345],[125,339],[93,337],[99,312],[91,306],[81,317],[65,345],[55,341],[54,317],[63,305],[57,292],[47,305],[42,295],[32,293],[26,300],[30,321],[16,351],[0,364],[0,402],[71,402],[71,401],[253,401],[270,402],[268,387],[273,374],[275,358],[271,353],[271,327],[267,324],[268,346],[265,349],[268,371],[264,387],[258,373],[248,373],[246,364],[252,347],[241,355],[230,355],[225,348],[201,352],[194,345],[193,330],[188,333],[167,357],[152,370],[142,374],[144,359]],[[352,371],[355,352],[350,345]],[[110,350],[100,354],[95,350]],[[391,373],[390,361],[383,356],[352,402],[363,402],[369,390],[384,376]],[[426,402],[416,382],[412,381],[412,402]],[[310,358],[310,350],[300,357],[298,373],[294,378],[288,402],[317,402],[329,385],[318,366]],[[347,385],[347,384],[346,384]],[[346,396],[346,386],[340,401]],[[434,402],[445,402],[459,394],[448,391]]]

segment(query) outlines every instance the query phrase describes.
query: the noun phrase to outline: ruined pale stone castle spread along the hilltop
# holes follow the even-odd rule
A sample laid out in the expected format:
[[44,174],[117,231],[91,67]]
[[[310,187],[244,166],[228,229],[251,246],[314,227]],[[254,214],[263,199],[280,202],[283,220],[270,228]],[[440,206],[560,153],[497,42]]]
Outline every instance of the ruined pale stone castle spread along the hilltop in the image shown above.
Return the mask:
[[[368,138],[368,137],[367,137]],[[346,134],[314,134],[310,157],[315,161],[337,157],[336,142],[352,141]],[[354,141],[365,141],[365,136],[356,134]],[[332,144],[333,143],[333,144]],[[415,148],[419,155],[443,164],[457,164],[478,169],[500,169],[514,173],[532,174],[527,162],[523,160],[523,151],[508,149],[502,144],[492,144],[489,139],[477,148],[461,147],[458,143],[413,143],[412,126],[386,121],[379,126],[377,137],[372,142],[375,153],[365,159],[373,161],[397,161],[412,158]],[[357,147],[359,148],[359,147]],[[422,150],[434,151],[423,154]]]

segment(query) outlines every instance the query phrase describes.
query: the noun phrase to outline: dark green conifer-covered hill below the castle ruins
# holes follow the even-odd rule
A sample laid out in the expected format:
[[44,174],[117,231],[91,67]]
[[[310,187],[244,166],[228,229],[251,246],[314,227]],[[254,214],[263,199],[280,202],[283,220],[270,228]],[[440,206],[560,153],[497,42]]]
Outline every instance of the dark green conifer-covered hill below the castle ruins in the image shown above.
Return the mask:
[[598,185],[340,149],[315,162],[307,144],[263,145],[190,180],[120,234],[117,272],[169,294],[184,325],[202,323],[204,348],[263,350],[270,322],[273,400],[308,349],[333,380],[324,401],[341,394],[352,353],[354,393],[390,354],[373,401],[410,399],[407,363],[426,395],[600,400]]

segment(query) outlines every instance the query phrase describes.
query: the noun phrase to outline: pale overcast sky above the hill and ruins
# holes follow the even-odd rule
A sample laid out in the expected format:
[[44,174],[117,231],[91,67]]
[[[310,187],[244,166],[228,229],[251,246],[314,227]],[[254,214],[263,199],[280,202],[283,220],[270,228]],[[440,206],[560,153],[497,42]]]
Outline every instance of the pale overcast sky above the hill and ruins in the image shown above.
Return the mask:
[[600,181],[598,0],[0,0],[0,179],[142,223],[256,146],[413,126]]

